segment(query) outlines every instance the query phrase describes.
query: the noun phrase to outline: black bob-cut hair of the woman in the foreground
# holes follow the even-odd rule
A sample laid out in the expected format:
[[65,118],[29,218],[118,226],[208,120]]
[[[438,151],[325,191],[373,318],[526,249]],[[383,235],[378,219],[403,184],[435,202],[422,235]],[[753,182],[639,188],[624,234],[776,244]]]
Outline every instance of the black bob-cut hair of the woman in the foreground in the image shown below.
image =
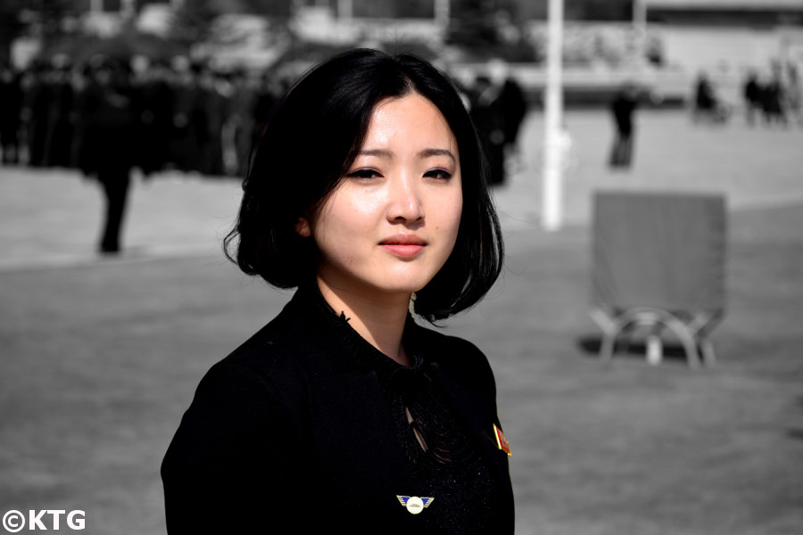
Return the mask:
[[463,211],[443,268],[416,292],[416,314],[430,322],[470,308],[491,289],[504,254],[488,192],[488,170],[468,112],[442,72],[408,54],[356,49],[310,70],[277,105],[252,153],[236,226],[224,241],[231,259],[279,288],[314,280],[318,251],[295,232],[344,177],[385,98],[412,93],[435,104],[459,150]]

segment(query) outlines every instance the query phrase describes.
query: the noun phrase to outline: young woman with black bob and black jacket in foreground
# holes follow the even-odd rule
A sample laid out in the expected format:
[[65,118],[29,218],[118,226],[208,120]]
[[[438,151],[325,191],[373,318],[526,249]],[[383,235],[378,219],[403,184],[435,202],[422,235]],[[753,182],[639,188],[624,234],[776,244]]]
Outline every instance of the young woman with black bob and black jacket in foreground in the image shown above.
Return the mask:
[[162,465],[170,533],[512,533],[491,367],[417,325],[501,271],[476,132],[430,64],[355,50],[269,119],[229,258],[298,287],[213,366]]

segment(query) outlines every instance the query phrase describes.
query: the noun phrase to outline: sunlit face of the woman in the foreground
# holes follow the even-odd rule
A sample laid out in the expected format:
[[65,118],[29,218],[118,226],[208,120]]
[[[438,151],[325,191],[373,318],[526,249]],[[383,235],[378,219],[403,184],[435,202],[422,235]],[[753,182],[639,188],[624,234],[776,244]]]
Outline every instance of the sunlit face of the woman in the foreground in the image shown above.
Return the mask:
[[408,296],[449,258],[462,206],[457,141],[435,104],[413,93],[377,104],[346,176],[297,230],[319,247],[321,284]]

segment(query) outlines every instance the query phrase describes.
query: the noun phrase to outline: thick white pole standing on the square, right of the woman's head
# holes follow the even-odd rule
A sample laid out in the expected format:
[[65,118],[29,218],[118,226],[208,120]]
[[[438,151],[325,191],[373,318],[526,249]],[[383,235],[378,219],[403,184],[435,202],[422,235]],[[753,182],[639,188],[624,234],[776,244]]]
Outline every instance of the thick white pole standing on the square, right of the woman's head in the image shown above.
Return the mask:
[[558,230],[563,224],[563,162],[560,147],[563,122],[563,0],[550,0],[547,36],[542,226],[551,231]]

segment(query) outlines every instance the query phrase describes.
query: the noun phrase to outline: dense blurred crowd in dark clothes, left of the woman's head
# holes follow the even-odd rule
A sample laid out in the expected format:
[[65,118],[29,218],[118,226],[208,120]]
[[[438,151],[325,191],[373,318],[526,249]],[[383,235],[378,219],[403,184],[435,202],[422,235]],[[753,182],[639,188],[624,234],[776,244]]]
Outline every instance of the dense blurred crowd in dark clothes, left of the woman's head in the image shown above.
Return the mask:
[[[95,56],[55,58],[0,72],[0,144],[5,164],[96,170],[114,157],[150,175],[164,169],[242,176],[258,118],[285,90],[282,80],[219,72],[185,61]],[[122,140],[120,140],[122,141]],[[107,143],[108,142],[108,143]]]

